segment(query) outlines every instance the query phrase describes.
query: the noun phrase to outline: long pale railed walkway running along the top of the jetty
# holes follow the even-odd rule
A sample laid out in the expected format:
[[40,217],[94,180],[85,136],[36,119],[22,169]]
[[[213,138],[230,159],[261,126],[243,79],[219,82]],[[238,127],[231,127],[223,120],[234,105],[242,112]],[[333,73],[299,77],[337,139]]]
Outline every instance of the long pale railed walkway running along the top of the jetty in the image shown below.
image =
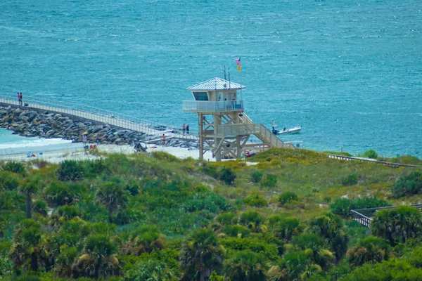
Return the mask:
[[[198,132],[190,131],[188,133],[183,133],[180,129],[176,129],[172,126],[167,126],[163,124],[158,124],[154,122],[148,122],[136,117],[122,115],[117,112],[112,112],[108,110],[101,110],[96,107],[90,107],[86,105],[75,105],[70,103],[55,102],[55,105],[60,107],[55,107],[49,105],[48,100],[32,100],[32,99],[23,99],[24,105],[19,105],[18,100],[11,100],[9,98],[0,97],[0,106],[4,107],[19,107],[22,110],[35,110],[35,111],[48,111],[59,113],[64,116],[68,116],[74,120],[80,120],[84,122],[92,122],[93,124],[110,124],[117,129],[127,129],[132,131],[138,131],[141,133],[146,133],[151,136],[151,140],[148,142],[160,141],[160,137],[163,133],[168,138],[180,138],[184,140],[198,141]],[[50,102],[51,103],[51,102]],[[84,110],[75,109],[75,107],[83,108]]]

